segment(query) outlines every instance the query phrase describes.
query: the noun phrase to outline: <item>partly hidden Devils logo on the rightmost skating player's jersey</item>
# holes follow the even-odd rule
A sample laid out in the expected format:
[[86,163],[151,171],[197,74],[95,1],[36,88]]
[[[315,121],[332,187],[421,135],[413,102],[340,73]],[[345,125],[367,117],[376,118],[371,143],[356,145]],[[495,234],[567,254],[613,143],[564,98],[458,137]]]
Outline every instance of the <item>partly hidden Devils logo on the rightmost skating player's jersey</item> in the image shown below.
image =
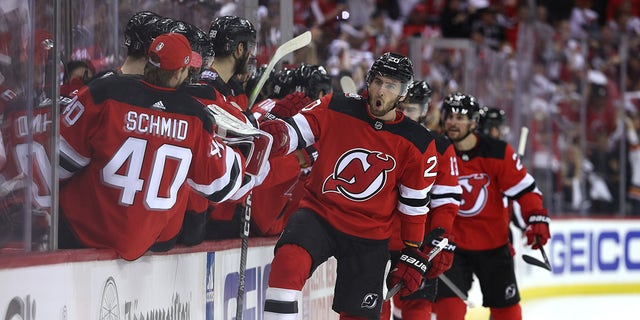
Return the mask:
[[462,200],[458,214],[465,217],[477,215],[487,204],[489,176],[485,173],[476,173],[458,177],[458,181],[462,187]]

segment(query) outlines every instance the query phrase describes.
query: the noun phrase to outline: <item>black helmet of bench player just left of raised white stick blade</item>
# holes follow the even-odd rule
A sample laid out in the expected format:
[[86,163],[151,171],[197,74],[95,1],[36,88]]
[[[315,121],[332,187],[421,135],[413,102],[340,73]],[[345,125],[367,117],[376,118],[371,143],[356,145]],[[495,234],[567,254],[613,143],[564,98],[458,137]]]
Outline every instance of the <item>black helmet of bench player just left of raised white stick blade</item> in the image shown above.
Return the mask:
[[209,27],[209,38],[217,56],[228,56],[239,43],[255,43],[256,28],[247,19],[237,16],[217,17]]

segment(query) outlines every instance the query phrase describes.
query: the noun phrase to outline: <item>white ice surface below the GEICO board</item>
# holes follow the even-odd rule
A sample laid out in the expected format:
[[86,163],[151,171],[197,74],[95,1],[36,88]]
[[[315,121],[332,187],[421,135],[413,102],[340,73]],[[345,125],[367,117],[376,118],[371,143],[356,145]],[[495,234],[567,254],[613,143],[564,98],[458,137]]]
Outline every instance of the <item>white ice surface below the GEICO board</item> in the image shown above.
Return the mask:
[[[584,295],[525,301],[523,320],[638,320],[640,293]],[[487,320],[488,309],[470,309],[466,320]]]

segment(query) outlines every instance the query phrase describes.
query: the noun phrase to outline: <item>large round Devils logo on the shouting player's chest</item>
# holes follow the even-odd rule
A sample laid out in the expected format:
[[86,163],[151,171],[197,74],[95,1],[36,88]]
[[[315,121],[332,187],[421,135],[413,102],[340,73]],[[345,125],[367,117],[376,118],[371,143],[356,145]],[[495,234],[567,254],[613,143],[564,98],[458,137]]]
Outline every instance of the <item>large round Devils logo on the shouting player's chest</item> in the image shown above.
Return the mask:
[[395,159],[381,152],[349,150],[324,180],[322,192],[337,192],[354,201],[365,201],[384,187],[387,172],[395,166]]

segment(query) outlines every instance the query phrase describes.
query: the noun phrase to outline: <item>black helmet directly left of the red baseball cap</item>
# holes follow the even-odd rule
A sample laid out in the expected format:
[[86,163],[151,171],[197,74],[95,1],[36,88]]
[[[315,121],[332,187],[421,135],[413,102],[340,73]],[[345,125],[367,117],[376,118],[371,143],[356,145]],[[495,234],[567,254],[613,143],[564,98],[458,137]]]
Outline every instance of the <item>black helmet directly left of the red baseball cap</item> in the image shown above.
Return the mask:
[[157,22],[162,19],[151,11],[140,11],[134,14],[124,29],[124,45],[130,55],[147,55],[153,39],[161,34]]

